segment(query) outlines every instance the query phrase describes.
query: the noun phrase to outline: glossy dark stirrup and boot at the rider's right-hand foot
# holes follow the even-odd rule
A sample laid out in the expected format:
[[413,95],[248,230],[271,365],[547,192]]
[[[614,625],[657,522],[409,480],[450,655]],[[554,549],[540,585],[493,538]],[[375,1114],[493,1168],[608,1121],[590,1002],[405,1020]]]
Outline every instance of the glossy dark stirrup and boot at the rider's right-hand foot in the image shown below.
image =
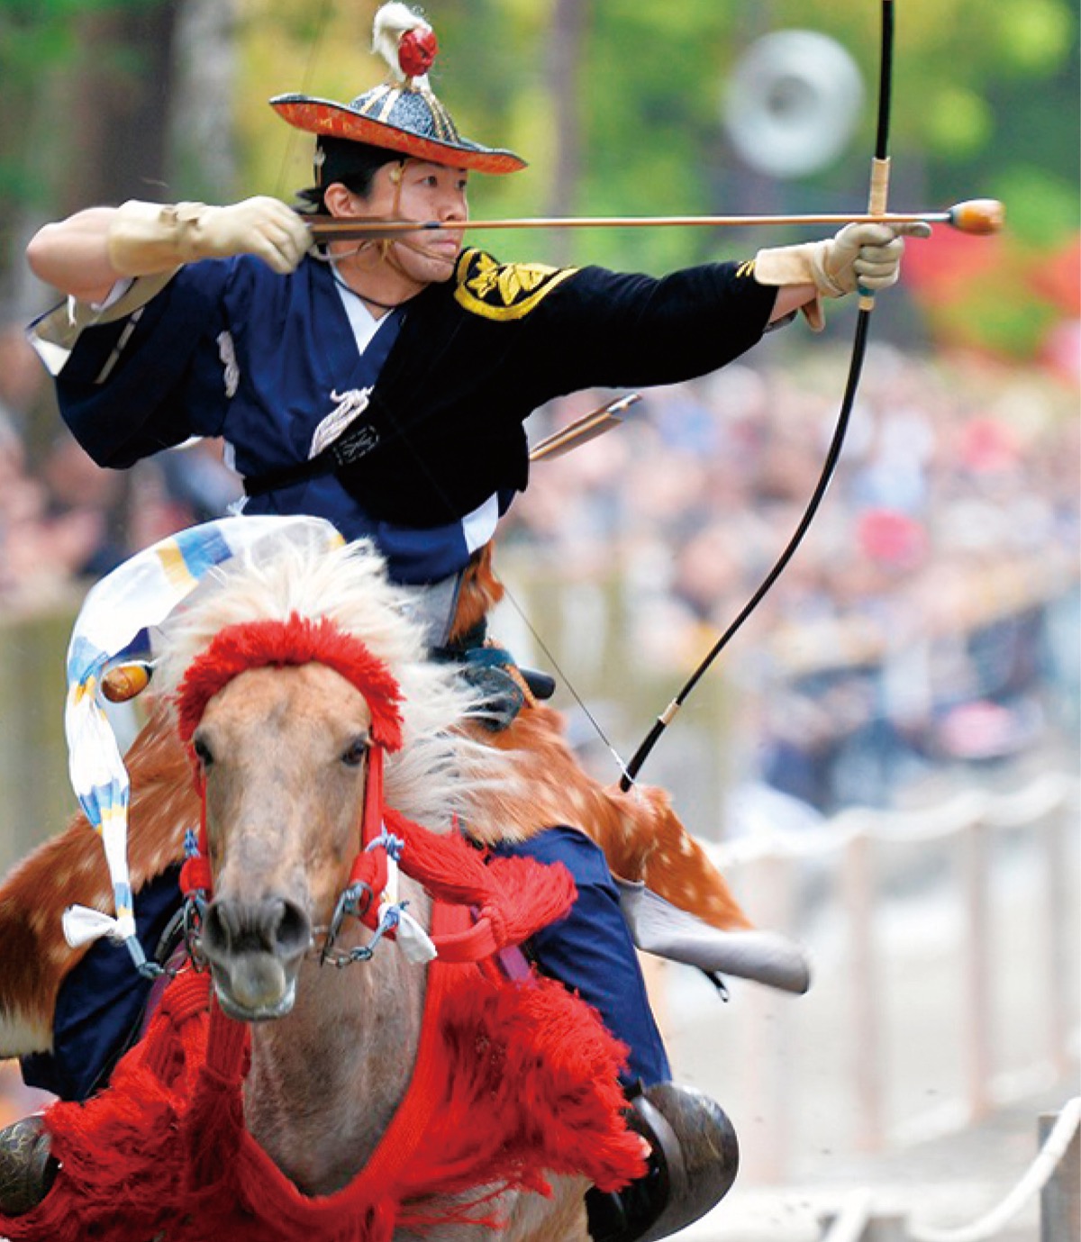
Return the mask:
[[585,1196],[593,1242],[655,1242],[705,1216],[739,1167],[723,1109],[691,1087],[656,1083],[630,1100],[627,1125],[652,1148],[649,1172],[623,1190]]

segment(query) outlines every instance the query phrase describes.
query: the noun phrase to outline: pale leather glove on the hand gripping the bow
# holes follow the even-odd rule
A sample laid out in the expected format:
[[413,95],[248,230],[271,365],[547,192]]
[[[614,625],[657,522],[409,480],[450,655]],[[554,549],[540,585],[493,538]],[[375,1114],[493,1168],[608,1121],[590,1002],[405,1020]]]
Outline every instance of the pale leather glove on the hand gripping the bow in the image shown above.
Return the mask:
[[857,289],[877,293],[897,282],[906,236],[929,237],[931,225],[845,225],[824,241],[760,250],[754,257],[754,278],[759,284],[813,284],[818,298],[803,310],[810,325],[820,330],[819,298],[841,298]]

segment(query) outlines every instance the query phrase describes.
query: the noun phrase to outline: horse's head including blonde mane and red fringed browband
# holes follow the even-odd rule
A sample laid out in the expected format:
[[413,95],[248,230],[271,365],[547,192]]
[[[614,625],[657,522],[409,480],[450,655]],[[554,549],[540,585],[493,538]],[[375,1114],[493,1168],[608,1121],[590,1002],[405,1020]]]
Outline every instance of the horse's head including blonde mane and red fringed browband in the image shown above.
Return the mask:
[[456,730],[467,692],[425,658],[365,545],[286,549],[220,575],[206,596],[162,660],[203,800],[212,897],[200,950],[230,1016],[278,1018],[379,833],[384,761],[399,809],[419,785],[429,806],[410,810],[429,822],[461,809],[451,770],[470,766]]

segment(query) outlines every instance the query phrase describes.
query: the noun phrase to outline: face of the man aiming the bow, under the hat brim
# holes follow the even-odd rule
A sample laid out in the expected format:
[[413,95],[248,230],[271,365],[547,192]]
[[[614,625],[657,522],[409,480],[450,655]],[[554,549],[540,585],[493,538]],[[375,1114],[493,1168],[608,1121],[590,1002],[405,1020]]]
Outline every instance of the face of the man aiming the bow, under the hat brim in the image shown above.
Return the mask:
[[[401,178],[400,185],[395,178]],[[400,220],[439,220],[455,224],[468,219],[466,199],[468,171],[408,159],[405,164],[384,164],[378,170],[368,199],[358,199],[358,214]],[[403,271],[420,284],[449,281],[462,248],[460,229],[432,230],[399,235],[394,257]]]

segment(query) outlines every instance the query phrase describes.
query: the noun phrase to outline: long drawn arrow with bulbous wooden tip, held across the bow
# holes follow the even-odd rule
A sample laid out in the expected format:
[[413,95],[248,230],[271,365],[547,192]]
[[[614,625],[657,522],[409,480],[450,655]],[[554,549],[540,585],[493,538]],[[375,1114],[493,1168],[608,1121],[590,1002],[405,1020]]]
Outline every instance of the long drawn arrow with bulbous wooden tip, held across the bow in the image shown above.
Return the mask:
[[969,199],[946,211],[881,211],[860,215],[796,216],[534,216],[521,220],[365,220],[309,216],[317,242],[378,241],[404,232],[461,232],[482,229],[736,229],[755,225],[929,224],[987,236],[1000,232],[1005,207],[997,199]]

